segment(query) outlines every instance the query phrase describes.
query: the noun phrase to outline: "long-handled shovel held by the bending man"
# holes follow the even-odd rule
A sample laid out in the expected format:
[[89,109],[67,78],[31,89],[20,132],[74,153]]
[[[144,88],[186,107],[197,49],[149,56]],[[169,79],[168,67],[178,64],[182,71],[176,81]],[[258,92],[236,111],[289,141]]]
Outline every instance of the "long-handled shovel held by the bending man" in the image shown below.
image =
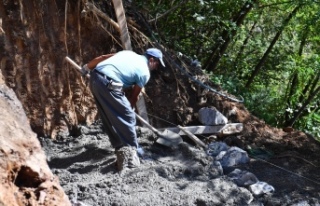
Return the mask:
[[[81,70],[81,67],[75,63],[72,59],[70,59],[68,56],[65,57],[65,60],[70,63],[75,69],[77,69],[79,72]],[[87,75],[88,77],[88,75]],[[183,142],[182,137],[174,133],[170,130],[165,129],[162,133],[160,133],[156,128],[151,126],[146,120],[144,120],[140,115],[136,113],[136,117],[149,129],[151,129],[156,135],[158,135],[158,139],[156,140],[157,143],[162,144],[167,147],[174,147],[179,145],[181,142]]]

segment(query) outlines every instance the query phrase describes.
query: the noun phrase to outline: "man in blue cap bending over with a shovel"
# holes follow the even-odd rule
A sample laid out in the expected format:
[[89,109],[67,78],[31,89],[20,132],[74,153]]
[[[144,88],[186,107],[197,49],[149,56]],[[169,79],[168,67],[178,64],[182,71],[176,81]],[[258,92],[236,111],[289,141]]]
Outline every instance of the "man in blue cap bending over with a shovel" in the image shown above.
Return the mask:
[[[144,55],[124,50],[96,57],[82,67],[90,72],[90,89],[98,113],[117,156],[119,171],[140,165],[134,109],[141,89],[150,79],[150,71],[164,65],[159,49],[147,49]],[[133,87],[128,100],[123,89]]]

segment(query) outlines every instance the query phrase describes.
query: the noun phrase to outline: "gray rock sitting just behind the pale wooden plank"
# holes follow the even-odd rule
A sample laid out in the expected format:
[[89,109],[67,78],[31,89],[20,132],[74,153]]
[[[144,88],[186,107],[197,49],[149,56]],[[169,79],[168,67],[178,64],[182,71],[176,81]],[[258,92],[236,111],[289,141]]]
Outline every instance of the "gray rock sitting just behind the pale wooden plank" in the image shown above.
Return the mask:
[[228,119],[215,107],[203,107],[198,112],[198,119],[203,125],[223,125]]

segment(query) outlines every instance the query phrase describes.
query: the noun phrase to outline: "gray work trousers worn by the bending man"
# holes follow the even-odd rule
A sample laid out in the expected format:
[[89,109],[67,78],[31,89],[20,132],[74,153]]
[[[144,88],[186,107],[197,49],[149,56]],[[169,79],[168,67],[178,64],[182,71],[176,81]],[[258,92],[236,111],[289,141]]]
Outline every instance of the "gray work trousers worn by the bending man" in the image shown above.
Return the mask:
[[94,70],[90,74],[90,89],[105,132],[114,148],[138,148],[135,112],[124,92],[107,88],[109,82],[108,78]]

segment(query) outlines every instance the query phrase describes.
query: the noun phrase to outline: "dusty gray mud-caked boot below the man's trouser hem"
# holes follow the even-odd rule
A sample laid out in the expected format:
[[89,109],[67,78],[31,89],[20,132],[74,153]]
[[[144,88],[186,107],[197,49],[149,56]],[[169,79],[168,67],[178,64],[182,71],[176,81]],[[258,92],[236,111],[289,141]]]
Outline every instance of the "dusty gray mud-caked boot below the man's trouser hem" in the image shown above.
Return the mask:
[[140,160],[137,150],[133,147],[122,147],[116,150],[118,171],[125,168],[137,168],[140,166]]

